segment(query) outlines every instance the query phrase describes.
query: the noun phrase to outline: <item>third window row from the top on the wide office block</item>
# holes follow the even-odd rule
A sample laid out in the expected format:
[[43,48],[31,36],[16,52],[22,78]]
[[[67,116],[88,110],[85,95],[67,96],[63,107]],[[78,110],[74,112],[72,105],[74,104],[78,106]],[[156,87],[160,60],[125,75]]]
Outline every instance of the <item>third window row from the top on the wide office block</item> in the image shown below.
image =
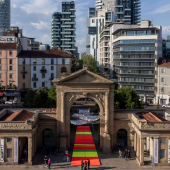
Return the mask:
[[155,47],[120,47],[114,49],[114,51],[155,51]]

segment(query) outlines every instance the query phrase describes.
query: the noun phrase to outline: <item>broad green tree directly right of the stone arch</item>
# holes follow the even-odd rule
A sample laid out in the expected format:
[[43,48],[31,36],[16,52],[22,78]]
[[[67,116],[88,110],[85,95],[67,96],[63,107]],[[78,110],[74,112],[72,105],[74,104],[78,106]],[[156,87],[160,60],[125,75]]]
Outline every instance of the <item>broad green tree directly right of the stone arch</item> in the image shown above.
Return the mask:
[[142,109],[139,95],[130,87],[119,88],[114,91],[115,109]]

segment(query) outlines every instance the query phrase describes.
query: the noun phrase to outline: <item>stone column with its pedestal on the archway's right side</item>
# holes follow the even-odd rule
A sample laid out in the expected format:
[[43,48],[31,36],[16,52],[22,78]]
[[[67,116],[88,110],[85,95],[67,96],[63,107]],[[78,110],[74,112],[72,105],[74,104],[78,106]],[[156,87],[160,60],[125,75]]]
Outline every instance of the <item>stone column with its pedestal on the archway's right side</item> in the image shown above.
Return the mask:
[[109,92],[105,93],[105,133],[103,152],[111,152],[111,137],[109,134]]

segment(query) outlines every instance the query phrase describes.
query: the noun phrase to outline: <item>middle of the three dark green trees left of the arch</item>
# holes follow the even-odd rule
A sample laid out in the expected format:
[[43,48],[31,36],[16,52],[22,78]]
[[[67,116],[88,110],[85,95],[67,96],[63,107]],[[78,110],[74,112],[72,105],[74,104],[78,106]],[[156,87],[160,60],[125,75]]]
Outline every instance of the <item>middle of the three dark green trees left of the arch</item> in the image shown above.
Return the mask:
[[46,108],[48,102],[48,93],[44,87],[37,90],[36,95],[33,99],[34,108]]

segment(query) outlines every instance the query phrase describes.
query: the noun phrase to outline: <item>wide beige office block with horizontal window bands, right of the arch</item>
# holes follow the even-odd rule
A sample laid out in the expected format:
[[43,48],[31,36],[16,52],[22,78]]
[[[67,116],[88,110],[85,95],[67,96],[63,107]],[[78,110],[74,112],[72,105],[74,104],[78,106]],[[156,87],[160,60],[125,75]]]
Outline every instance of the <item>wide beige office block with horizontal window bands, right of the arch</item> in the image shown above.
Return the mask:
[[140,26],[112,23],[110,29],[101,32],[101,48],[109,31],[110,41],[107,40],[105,56],[101,56],[100,70],[104,67],[103,72],[117,79],[119,87],[129,86],[142,100],[154,104],[157,62],[162,57],[162,27],[152,26],[150,21],[141,21]]

